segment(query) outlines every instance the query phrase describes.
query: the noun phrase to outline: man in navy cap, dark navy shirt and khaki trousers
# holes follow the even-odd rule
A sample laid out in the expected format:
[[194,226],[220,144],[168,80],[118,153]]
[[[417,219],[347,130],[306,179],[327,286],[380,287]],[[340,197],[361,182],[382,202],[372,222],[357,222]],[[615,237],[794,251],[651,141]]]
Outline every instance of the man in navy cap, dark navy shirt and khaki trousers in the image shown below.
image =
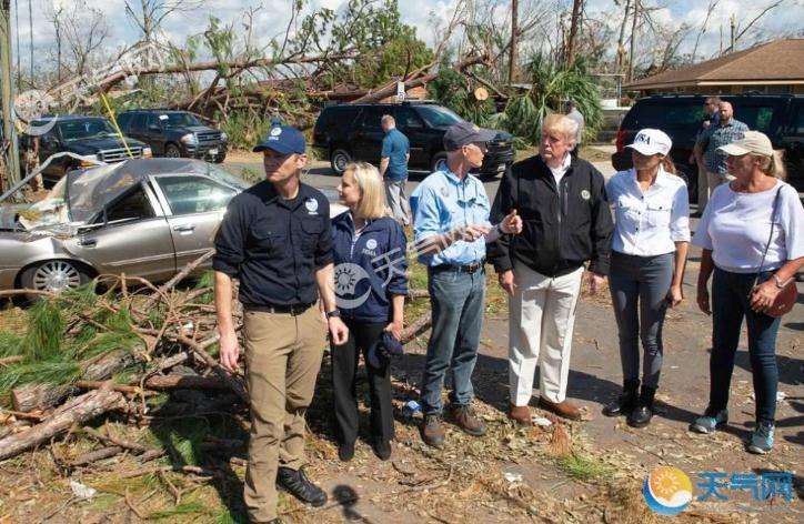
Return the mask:
[[245,506],[251,522],[275,523],[275,483],[314,506],[326,502],[302,470],[304,413],[328,329],[334,345],[345,342],[348,330],[332,286],[330,204],[299,180],[304,137],[274,127],[254,151],[263,152],[267,178],[229,203],[212,266],[221,365],[231,371],[241,353],[232,320],[232,280],[240,280],[251,407]]

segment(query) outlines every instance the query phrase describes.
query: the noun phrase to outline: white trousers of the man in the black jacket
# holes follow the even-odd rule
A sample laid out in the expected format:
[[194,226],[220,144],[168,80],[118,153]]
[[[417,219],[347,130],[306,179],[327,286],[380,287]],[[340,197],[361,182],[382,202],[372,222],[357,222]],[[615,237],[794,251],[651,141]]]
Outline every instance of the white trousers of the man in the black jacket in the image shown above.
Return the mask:
[[536,365],[539,393],[550,402],[563,402],[583,268],[555,278],[516,263],[513,271],[516,291],[509,299],[511,403],[524,406],[531,401]]

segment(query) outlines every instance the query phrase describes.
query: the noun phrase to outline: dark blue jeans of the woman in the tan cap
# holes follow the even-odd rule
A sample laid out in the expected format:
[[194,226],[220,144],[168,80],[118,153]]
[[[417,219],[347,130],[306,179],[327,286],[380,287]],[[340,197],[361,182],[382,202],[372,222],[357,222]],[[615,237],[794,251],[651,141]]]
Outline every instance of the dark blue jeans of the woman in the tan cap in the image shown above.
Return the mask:
[[[758,282],[772,271],[760,274]],[[756,396],[756,420],[773,424],[776,415],[776,333],[781,319],[755,313],[748,294],[756,273],[731,273],[715,268],[712,280],[712,355],[710,357],[710,413],[725,410],[734,371],[734,354],[740,342],[743,316],[748,328],[748,356]]]

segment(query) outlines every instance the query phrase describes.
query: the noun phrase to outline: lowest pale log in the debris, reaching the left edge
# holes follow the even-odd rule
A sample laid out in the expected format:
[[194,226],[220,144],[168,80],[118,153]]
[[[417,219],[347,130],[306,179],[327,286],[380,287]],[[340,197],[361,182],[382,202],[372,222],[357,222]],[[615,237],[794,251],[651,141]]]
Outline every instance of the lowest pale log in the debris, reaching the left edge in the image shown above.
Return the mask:
[[123,395],[109,389],[90,391],[59,407],[41,424],[0,441],[0,461],[43,444],[66,432],[73,424],[83,424],[108,411],[124,405]]

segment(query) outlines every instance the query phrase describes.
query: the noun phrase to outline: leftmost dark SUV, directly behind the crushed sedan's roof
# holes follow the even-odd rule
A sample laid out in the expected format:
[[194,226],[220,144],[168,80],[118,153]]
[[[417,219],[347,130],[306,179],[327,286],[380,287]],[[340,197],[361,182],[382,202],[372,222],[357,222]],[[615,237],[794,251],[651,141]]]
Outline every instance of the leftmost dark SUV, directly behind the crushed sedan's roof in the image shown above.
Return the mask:
[[[61,152],[76,153],[105,163],[151,157],[148,144],[129,137],[125,137],[123,143],[114,125],[103,117],[46,115],[34,120],[33,124],[39,129],[49,128],[39,137],[39,161],[42,163],[48,157]],[[42,173],[52,180],[53,177],[61,177],[71,169],[87,165],[93,164],[71,157],[61,157],[54,159]]]

